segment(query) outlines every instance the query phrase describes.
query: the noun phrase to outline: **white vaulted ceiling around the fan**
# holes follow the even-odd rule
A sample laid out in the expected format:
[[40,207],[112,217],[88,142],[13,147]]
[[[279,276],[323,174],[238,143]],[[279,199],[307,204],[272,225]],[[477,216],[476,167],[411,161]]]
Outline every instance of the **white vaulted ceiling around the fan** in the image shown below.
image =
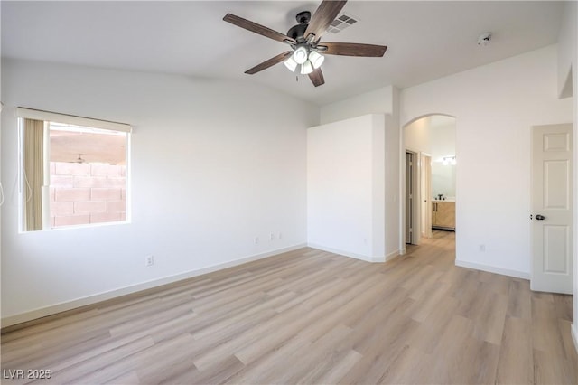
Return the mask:
[[[325,84],[283,64],[243,72],[288,46],[222,18],[231,13],[286,33],[319,1],[0,3],[2,56],[249,81],[322,105],[390,84],[406,88],[555,43],[564,2],[351,1],[359,23],[322,42],[388,46],[383,58],[328,55]],[[492,41],[479,46],[480,33]]]

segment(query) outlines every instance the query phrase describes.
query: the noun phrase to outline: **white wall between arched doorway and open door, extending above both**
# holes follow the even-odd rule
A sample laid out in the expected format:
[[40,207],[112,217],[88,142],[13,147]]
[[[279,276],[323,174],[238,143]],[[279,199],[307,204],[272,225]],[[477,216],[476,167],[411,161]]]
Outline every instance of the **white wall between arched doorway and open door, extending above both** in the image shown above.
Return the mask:
[[457,119],[458,265],[529,277],[530,127],[573,120],[556,71],[552,45],[402,90],[403,124]]

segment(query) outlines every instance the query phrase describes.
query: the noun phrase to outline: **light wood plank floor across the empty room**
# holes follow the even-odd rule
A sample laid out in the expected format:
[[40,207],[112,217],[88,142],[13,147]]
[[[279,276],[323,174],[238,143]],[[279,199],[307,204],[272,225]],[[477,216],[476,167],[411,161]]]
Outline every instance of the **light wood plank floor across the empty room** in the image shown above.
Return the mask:
[[385,264],[299,249],[11,328],[3,377],[577,384],[572,296],[455,267],[452,234],[436,231]]

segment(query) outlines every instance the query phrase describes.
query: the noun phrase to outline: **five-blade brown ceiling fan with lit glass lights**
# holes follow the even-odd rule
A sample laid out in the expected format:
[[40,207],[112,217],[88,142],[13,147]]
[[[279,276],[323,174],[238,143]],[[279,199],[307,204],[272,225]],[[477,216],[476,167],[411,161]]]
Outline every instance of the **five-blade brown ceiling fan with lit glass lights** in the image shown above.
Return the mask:
[[321,65],[325,55],[382,57],[387,50],[385,45],[361,44],[356,42],[320,42],[322,34],[335,20],[347,0],[323,0],[313,15],[308,11],[300,12],[295,16],[297,25],[294,25],[287,34],[278,33],[266,26],[251,22],[234,14],[226,14],[223,20],[245,28],[248,31],[266,36],[277,42],[284,42],[291,46],[292,51],[286,51],[275,57],[257,64],[246,70],[253,75],[261,70],[284,61],[285,66],[294,71],[301,65],[301,74],[309,75],[315,87],[325,83]]

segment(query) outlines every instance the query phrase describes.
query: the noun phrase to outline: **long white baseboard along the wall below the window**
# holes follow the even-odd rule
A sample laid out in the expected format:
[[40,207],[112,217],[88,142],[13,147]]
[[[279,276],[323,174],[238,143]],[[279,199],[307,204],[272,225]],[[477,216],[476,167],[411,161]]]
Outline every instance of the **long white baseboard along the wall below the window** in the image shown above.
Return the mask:
[[199,268],[196,270],[190,270],[181,274],[177,274],[174,276],[162,277],[158,279],[154,279],[151,281],[143,282],[141,284],[133,285],[133,286],[126,286],[121,287],[115,290],[107,291],[105,293],[100,293],[94,296],[85,296],[82,298],[78,298],[72,301],[62,302],[56,305],[45,306],[39,309],[35,309],[29,312],[21,313],[18,315],[10,315],[5,318],[2,318],[2,328],[7,326],[12,326],[14,324],[22,324],[23,322],[32,321],[38,318],[45,317],[47,315],[55,315],[61,312],[65,312],[68,310],[76,309],[81,306],[86,305],[94,305],[98,302],[107,301],[108,299],[113,299],[118,296],[126,296],[129,294],[134,294],[139,291],[147,290],[150,288],[154,288],[156,286],[163,286],[167,284],[172,284],[174,282],[182,281],[183,279],[201,276],[203,274],[211,273],[213,271],[222,270],[223,268],[232,268],[234,266],[242,265],[247,262],[251,262],[258,259],[273,257],[278,254],[283,254],[288,251],[293,251],[296,249],[302,249],[306,247],[306,244],[299,244],[290,246],[283,249],[275,249],[271,251],[267,251],[265,253],[256,254],[253,256],[245,257],[245,258],[238,258],[235,260],[231,260],[225,263],[212,265],[207,268]]

